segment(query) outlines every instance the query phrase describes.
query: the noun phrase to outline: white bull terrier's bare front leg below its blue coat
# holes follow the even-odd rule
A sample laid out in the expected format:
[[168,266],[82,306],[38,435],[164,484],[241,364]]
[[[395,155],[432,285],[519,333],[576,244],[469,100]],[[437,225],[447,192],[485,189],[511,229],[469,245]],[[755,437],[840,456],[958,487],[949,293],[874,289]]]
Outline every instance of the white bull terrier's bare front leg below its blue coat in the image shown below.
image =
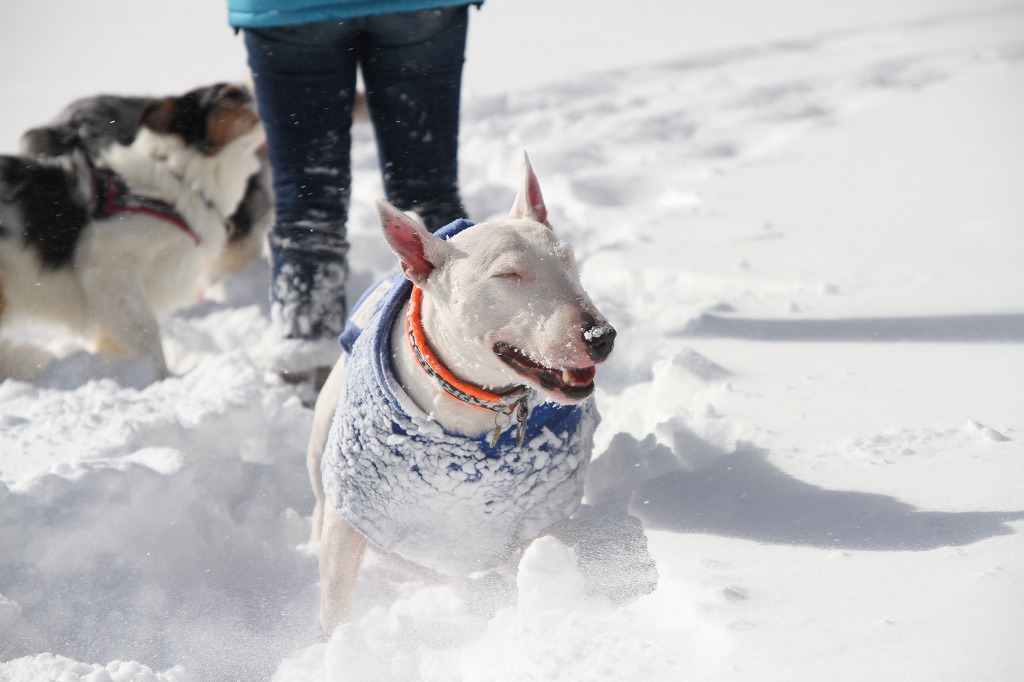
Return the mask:
[[321,636],[325,640],[339,624],[352,619],[355,580],[366,548],[366,536],[341,518],[333,505],[327,505],[321,537]]

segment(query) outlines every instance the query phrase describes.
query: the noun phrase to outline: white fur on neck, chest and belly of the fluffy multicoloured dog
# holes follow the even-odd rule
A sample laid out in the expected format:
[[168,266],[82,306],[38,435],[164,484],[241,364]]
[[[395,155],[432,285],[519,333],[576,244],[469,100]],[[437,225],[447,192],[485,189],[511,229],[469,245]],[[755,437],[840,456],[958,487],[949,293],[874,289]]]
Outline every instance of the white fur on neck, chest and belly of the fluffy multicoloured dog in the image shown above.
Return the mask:
[[30,249],[0,249],[5,316],[60,323],[97,350],[150,357],[167,376],[159,321],[197,296],[203,272],[224,248],[224,220],[259,170],[262,142],[257,124],[215,155],[146,128],[130,146],[112,146],[105,165],[131,191],[173,206],[199,244],[164,219],[118,214],[90,222],[73,267],[48,270]]

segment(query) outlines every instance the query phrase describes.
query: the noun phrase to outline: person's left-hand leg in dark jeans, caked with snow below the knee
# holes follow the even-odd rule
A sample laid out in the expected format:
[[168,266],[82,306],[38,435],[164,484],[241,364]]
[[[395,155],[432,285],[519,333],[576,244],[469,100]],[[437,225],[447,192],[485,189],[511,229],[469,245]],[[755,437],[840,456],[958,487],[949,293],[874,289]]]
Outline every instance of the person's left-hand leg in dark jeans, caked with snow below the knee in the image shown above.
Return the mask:
[[345,322],[355,35],[354,22],[245,32],[273,171],[270,299],[284,339],[334,342]]

